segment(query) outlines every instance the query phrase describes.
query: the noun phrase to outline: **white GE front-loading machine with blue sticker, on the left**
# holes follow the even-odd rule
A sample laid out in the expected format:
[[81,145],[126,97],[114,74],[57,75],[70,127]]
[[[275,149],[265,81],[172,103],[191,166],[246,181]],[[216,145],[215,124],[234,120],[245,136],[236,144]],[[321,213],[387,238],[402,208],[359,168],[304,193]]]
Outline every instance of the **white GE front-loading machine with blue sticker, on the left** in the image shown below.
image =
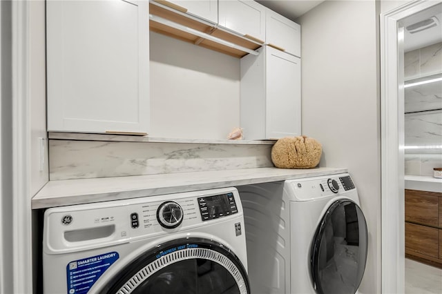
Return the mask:
[[44,293],[250,293],[236,188],[49,208]]

